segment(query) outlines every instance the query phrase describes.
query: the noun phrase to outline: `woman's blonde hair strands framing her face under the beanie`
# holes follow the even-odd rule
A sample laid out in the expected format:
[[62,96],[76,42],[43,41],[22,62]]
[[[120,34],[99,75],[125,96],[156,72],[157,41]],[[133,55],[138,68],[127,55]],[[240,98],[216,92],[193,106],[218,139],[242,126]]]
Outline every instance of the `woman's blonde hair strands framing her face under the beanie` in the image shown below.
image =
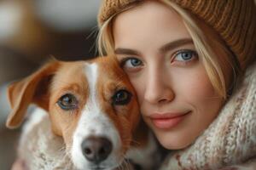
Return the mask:
[[[210,44],[210,40],[208,39],[208,37],[205,36],[204,32],[198,26],[200,20],[198,20],[192,14],[189,14],[189,12],[187,12],[185,9],[179,7],[176,3],[172,3],[170,0],[160,0],[160,2],[166,4],[168,7],[172,8],[178,15],[181,16],[183,24],[184,26],[186,26],[195,44],[195,49],[199,56],[201,56],[202,63],[207,71],[207,75],[210,81],[212,82],[212,87],[216,90],[219,96],[226,99],[228,91],[230,91],[231,89],[227,89],[228,87],[225,80],[228,77],[224,74],[222,66],[232,68],[233,77],[231,82],[236,82],[235,80],[237,77],[236,74],[238,73],[239,70],[239,64],[236,62],[236,59],[234,59],[234,55],[225,46],[224,42],[221,41],[220,37],[212,36],[211,42],[214,43],[214,45],[217,45],[226,56],[224,57],[224,59],[219,59],[218,54],[216,54],[216,52],[214,52],[213,50],[214,45]],[[129,8],[125,8],[119,13]],[[98,50],[100,55],[114,53],[112,25],[113,18],[116,15],[117,14],[113,14],[113,16],[111,16],[107,21],[105,21],[102,24],[102,27],[100,28],[97,38]],[[231,88],[233,88],[234,86],[235,83],[230,84]]]

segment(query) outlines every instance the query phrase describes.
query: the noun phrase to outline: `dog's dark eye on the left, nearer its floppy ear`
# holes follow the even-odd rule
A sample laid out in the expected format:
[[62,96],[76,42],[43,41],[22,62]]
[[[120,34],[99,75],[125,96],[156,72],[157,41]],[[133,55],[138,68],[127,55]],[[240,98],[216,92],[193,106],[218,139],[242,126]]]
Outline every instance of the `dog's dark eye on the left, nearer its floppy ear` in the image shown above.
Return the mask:
[[61,96],[57,104],[61,107],[61,109],[69,111],[77,108],[78,100],[73,94],[65,94]]

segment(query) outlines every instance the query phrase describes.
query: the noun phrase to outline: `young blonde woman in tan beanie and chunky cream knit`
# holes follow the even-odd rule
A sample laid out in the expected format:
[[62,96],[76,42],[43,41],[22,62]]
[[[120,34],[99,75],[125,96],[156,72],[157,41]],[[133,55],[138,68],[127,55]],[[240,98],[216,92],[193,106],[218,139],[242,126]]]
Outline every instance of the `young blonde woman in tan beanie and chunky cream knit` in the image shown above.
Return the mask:
[[98,21],[170,150],[161,169],[256,167],[253,0],[105,0]]

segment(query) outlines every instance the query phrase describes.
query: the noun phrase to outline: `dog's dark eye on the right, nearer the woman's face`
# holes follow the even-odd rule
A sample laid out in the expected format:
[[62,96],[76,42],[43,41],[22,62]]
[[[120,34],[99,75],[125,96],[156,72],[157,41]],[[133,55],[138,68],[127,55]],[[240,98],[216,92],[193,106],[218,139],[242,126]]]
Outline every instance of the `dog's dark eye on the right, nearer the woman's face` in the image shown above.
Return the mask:
[[127,105],[131,101],[131,93],[127,90],[119,90],[113,94],[113,105]]

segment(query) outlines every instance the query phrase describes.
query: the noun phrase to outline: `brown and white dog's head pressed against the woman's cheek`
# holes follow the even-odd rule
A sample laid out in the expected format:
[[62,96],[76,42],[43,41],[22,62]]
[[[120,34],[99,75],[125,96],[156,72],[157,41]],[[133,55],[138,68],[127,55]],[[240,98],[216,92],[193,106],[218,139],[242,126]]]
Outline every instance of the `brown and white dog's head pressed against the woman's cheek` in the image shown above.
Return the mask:
[[20,126],[27,107],[38,105],[77,169],[114,169],[126,159],[143,169],[157,163],[136,93],[114,57],[49,62],[10,85],[9,100],[7,127]]

